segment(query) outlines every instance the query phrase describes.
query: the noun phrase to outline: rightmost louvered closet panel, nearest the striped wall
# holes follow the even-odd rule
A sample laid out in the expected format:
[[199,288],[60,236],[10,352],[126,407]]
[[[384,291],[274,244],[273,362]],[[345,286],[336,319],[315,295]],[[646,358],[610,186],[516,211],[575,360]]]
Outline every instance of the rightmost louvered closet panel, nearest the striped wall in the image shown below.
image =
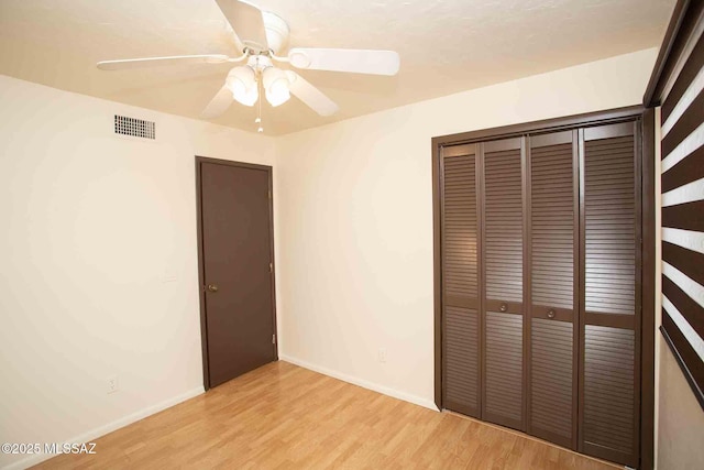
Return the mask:
[[634,468],[640,396],[638,142],[635,122],[580,131],[584,192],[580,450]]

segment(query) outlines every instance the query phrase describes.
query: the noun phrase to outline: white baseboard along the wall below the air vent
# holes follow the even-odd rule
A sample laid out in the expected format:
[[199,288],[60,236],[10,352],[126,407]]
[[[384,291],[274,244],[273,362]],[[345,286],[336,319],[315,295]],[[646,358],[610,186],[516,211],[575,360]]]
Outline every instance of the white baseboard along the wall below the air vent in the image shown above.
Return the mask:
[[[158,413],[161,411],[164,411],[166,408],[169,408],[174,405],[177,405],[182,402],[185,402],[186,400],[193,398],[194,396],[198,396],[201,393],[205,393],[206,391],[204,390],[202,386],[198,386],[196,389],[189,390],[186,393],[182,393],[180,395],[176,395],[173,396],[170,398],[167,398],[161,403],[156,403],[152,406],[147,406],[146,408],[142,408],[139,412],[132,413],[128,416],[123,416],[119,419],[116,419],[111,423],[108,423],[103,426],[99,426],[96,427],[94,429],[90,429],[84,434],[80,434],[78,436],[74,436],[72,438],[68,439],[59,439],[57,440],[57,442],[76,442],[76,444],[81,444],[81,442],[90,442],[91,440],[95,440],[101,436],[105,436],[106,434],[112,433],[113,430],[118,430],[121,427],[124,427],[127,425],[130,425],[132,423],[139,422],[140,419],[143,419],[147,416],[151,416],[155,413]],[[96,449],[96,451],[100,451],[100,449]],[[26,459],[22,459],[19,460],[14,463],[11,463],[7,467],[3,467],[2,470],[22,470],[22,469],[26,469],[29,467],[35,466],[40,462],[43,462],[44,460],[48,460],[52,457],[56,457],[53,453],[35,453],[31,457],[28,457]]]

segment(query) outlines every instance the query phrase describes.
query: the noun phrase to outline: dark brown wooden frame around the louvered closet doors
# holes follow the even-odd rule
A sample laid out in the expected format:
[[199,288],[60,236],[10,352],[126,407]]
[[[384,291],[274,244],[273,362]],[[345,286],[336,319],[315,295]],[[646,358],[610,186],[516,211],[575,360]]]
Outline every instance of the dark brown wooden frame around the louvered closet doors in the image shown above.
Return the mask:
[[640,466],[653,468],[654,439],[654,275],[656,275],[656,194],[654,194],[654,112],[642,106],[547,119],[494,129],[432,138],[432,225],[433,225],[433,356],[435,403],[442,403],[442,232],[441,232],[441,150],[448,145],[521,136],[528,132],[572,130],[640,119],[641,142],[641,307],[640,330]]

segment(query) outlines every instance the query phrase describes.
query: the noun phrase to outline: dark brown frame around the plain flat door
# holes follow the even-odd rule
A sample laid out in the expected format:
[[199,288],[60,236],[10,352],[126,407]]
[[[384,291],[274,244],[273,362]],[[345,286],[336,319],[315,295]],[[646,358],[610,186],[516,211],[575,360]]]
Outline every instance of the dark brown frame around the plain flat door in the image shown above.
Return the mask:
[[196,219],[198,226],[198,295],[200,298],[200,345],[202,353],[202,386],[206,391],[210,390],[210,369],[208,363],[208,324],[206,317],[206,293],[205,293],[205,265],[204,265],[204,244],[202,244],[202,190],[201,184],[201,165],[210,163],[223,166],[237,166],[240,168],[261,170],[268,176],[268,228],[271,232],[270,259],[272,260],[272,320],[274,330],[272,335],[276,335],[274,342],[274,360],[278,361],[278,330],[276,326],[276,262],[274,258],[274,184],[273,168],[268,165],[258,165],[255,163],[234,162],[231,160],[210,159],[208,156],[196,155]]

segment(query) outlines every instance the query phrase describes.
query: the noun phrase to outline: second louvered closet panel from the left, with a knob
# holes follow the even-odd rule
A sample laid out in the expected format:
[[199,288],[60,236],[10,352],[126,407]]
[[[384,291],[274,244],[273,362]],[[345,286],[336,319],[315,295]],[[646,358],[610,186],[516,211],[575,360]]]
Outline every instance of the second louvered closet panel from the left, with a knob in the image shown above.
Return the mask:
[[521,142],[480,144],[484,175],[482,417],[525,430]]

